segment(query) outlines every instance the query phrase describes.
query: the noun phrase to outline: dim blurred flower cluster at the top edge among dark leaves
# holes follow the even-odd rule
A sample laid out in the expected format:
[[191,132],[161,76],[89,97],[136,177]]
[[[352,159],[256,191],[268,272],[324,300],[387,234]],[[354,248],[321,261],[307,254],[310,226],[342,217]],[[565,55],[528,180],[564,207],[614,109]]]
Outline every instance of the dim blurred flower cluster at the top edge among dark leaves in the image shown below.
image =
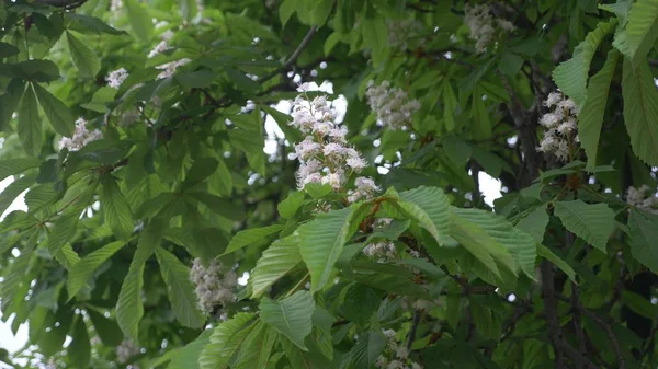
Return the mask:
[[466,4],[464,9],[466,14],[464,23],[470,30],[470,38],[475,41],[475,50],[478,54],[485,53],[487,46],[494,41],[496,30],[513,32],[514,24],[502,19],[495,19],[491,14],[491,8],[487,4],[472,7]]

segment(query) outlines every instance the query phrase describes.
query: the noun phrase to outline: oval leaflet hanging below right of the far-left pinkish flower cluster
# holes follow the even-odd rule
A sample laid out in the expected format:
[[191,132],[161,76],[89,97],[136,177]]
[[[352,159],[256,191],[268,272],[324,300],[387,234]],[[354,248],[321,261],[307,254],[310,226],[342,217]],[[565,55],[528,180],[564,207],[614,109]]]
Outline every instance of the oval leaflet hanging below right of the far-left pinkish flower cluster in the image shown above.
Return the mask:
[[101,207],[104,219],[117,239],[127,240],[135,228],[128,203],[111,174],[103,175],[101,184]]

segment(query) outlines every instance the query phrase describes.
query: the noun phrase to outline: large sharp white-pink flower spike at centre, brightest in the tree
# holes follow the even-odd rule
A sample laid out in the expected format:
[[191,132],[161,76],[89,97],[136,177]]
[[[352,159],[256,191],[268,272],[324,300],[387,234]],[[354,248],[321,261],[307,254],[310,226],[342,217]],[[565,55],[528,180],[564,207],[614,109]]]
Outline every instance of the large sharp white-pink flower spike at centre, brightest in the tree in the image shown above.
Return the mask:
[[[307,84],[298,89],[300,92],[307,90]],[[299,188],[309,183],[321,183],[341,191],[350,174],[360,173],[367,165],[361,153],[348,146],[348,130],[336,122],[336,114],[326,96],[310,100],[305,94],[298,95],[293,103],[292,116],[293,120],[288,124],[307,135],[302,142],[295,143],[293,154],[300,163],[296,173]],[[368,177],[358,177],[354,183],[356,189],[350,192],[350,201],[370,197],[379,191]]]

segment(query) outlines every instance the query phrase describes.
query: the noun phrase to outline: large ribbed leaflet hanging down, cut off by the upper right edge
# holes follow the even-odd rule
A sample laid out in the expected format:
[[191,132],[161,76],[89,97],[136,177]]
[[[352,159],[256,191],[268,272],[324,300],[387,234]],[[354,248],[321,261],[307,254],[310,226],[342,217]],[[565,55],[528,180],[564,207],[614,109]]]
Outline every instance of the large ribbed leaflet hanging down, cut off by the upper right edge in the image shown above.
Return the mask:
[[658,91],[648,61],[634,66],[624,60],[622,78],[624,122],[633,152],[649,165],[658,165]]

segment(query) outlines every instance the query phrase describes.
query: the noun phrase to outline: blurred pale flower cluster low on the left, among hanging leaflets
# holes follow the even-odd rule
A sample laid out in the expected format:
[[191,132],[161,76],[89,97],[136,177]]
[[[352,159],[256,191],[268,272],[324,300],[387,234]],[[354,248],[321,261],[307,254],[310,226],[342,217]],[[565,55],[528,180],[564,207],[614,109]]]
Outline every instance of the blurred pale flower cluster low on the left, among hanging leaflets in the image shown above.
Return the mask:
[[190,279],[196,285],[196,298],[201,310],[209,314],[216,307],[236,301],[235,289],[238,276],[235,270],[225,270],[219,261],[213,261],[206,268],[201,258],[195,258],[190,269]]

